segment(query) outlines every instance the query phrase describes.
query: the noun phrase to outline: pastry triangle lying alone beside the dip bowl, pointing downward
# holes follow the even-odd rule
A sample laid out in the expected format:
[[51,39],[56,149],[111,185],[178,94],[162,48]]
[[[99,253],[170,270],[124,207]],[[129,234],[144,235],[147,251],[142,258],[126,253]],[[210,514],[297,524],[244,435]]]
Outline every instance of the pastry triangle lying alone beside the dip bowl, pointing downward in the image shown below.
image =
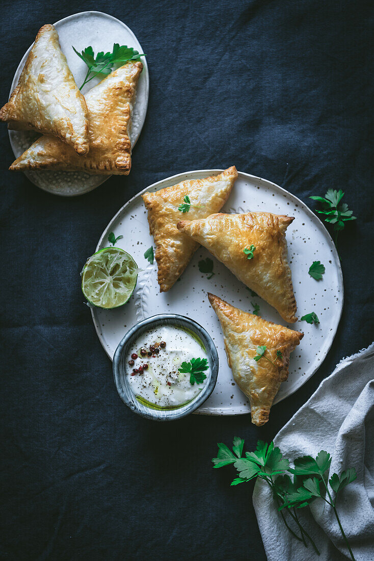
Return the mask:
[[[264,425],[281,382],[288,378],[290,353],[304,334],[243,312],[213,294],[208,297],[223,330],[234,380],[250,400],[252,422]],[[255,361],[257,347],[263,345],[264,356]]]

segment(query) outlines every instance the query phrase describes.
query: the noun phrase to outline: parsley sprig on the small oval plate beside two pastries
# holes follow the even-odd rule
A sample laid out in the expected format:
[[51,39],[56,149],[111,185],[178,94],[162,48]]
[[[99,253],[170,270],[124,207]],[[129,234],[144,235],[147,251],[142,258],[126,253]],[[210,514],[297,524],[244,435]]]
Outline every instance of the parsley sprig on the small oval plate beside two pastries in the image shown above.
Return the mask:
[[[145,57],[145,54],[140,54],[132,47],[127,47],[127,45],[121,45],[120,47],[119,43],[114,43],[111,53],[104,53],[104,51],[101,51],[96,54],[96,57],[91,46],[86,47],[81,53],[79,53],[75,47],[73,47],[73,49],[88,66],[87,74],[83,84],[79,88],[80,90],[87,82],[90,82],[95,76],[98,76],[98,74],[110,74],[114,65],[123,66],[126,62],[138,61],[140,59],[139,57]],[[90,74],[92,74],[92,76],[90,76]]]

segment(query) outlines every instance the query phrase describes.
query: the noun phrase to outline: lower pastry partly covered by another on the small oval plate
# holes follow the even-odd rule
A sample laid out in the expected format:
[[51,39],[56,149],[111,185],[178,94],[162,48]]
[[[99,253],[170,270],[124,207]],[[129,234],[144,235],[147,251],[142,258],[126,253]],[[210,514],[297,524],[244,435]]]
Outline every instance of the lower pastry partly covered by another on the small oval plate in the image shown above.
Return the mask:
[[89,110],[90,151],[78,155],[61,140],[42,136],[9,169],[53,169],[128,175],[131,169],[132,104],[141,62],[128,62],[110,73],[86,94]]

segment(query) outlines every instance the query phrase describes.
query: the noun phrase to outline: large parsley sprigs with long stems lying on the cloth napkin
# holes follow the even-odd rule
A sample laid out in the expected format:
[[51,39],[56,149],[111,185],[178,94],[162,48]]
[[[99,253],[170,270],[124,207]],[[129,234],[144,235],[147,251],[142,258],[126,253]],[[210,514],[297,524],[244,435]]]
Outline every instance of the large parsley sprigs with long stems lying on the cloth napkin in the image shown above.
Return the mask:
[[[214,467],[223,467],[234,464],[238,472],[238,477],[232,481],[231,485],[238,485],[251,481],[256,477],[266,481],[273,491],[273,498],[278,506],[278,511],[290,533],[307,547],[309,540],[320,555],[315,542],[308,532],[303,528],[297,509],[308,507],[313,500],[321,498],[333,508],[336,520],[347,544],[350,556],[354,561],[352,549],[350,549],[347,536],[344,534],[343,527],[336,511],[336,497],[350,482],[357,477],[354,468],[343,471],[339,476],[334,473],[328,480],[326,473],[330,470],[331,456],[321,450],[316,458],[304,456],[294,460],[294,468],[290,468],[290,462],[284,458],[279,448],[274,447],[274,442],[267,444],[258,440],[255,452],[243,454],[244,440],[237,436],[233,440],[233,452],[223,443],[218,443],[218,454],[212,459]],[[288,473],[293,475],[293,480]],[[331,489],[335,492],[335,500],[327,486],[327,480]],[[326,495],[328,498],[326,498]],[[293,519],[295,525],[292,529],[287,522],[285,513]]]

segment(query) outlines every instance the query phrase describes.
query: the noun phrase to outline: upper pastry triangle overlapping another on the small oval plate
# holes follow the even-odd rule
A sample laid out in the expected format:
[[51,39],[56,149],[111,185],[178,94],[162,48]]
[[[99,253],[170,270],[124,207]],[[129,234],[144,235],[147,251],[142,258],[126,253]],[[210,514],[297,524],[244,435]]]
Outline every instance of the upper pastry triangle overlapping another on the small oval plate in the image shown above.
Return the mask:
[[76,86],[53,25],[36,35],[16,89],[0,110],[0,120],[16,130],[58,136],[78,154],[89,151],[84,96]]

